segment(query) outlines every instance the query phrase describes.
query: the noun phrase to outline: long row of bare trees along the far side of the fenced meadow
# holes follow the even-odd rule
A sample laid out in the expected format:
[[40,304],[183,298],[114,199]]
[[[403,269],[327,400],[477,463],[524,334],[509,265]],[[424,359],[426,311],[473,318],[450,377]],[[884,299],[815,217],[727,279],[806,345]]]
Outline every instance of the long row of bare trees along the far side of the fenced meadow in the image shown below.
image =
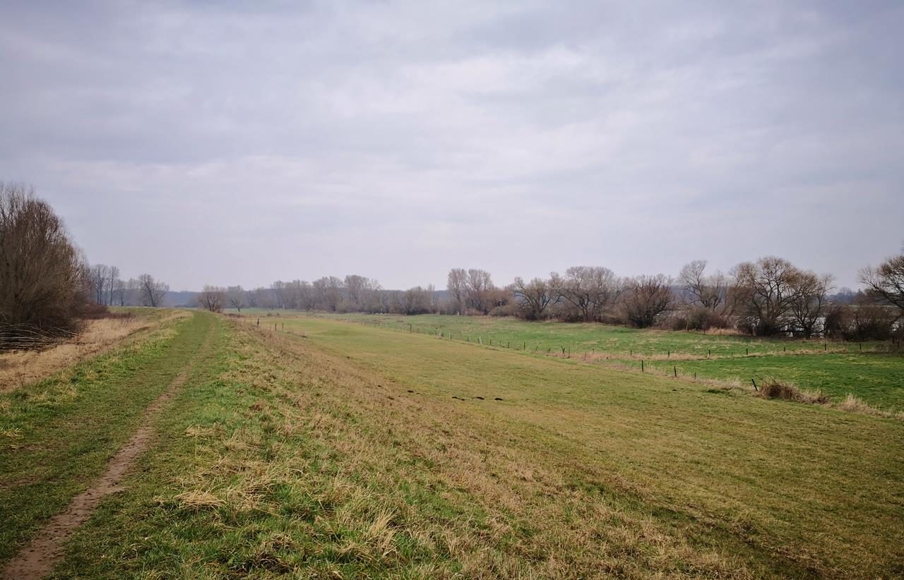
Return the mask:
[[735,329],[754,335],[900,339],[904,333],[904,256],[863,268],[866,289],[833,294],[832,276],[816,275],[780,257],[761,257],[729,274],[707,272],[705,260],[677,277],[616,276],[606,267],[570,267],[564,275],[499,286],[489,272],[454,268],[446,291],[432,285],[385,290],[365,276],[325,276],[267,287],[207,286],[210,310],[260,307],[335,313],[448,313],[518,316],[527,320],[620,323],[673,330]]

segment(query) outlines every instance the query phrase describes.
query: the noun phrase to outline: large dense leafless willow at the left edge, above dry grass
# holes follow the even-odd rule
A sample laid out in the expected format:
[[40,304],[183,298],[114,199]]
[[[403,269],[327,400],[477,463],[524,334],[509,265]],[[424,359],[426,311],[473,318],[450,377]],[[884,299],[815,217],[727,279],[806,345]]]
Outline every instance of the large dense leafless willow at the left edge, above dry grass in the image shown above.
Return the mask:
[[88,267],[51,206],[22,184],[0,182],[0,344],[73,331]]

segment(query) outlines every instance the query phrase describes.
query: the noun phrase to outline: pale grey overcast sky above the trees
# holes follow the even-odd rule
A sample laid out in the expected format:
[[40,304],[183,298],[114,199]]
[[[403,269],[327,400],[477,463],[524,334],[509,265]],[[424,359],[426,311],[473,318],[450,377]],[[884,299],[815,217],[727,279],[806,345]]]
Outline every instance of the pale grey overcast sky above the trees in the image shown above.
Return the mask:
[[894,1],[7,1],[0,180],[173,289],[768,254],[854,285],[904,243],[902,30]]

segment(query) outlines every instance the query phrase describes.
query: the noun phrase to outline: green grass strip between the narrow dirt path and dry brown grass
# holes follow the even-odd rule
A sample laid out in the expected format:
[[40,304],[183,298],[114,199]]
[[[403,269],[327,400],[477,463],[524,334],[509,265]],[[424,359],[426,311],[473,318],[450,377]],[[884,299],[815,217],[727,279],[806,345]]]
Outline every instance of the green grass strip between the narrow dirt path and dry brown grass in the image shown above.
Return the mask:
[[203,314],[178,319],[144,340],[0,395],[0,562],[103,472],[211,323]]

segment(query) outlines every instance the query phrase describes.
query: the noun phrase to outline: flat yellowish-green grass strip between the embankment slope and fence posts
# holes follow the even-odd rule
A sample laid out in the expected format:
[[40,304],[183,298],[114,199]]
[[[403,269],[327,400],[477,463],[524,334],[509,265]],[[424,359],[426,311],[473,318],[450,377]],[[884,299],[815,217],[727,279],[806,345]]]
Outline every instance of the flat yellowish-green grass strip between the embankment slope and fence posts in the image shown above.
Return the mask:
[[409,397],[465,399],[485,423],[558,456],[542,461],[576,485],[711,522],[703,536],[729,553],[745,554],[736,539],[779,561],[812,559],[823,573],[901,570],[900,421],[361,325],[286,323],[419,394]]

